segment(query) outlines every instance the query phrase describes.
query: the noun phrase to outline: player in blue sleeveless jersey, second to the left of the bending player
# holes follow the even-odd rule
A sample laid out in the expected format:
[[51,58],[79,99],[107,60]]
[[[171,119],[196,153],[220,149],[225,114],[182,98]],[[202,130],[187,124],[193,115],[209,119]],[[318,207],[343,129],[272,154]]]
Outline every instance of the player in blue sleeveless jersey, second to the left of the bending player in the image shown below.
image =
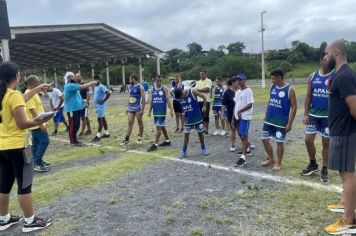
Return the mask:
[[132,133],[132,128],[134,125],[135,117],[139,127],[139,134],[137,139],[137,144],[142,144],[143,135],[143,114],[146,105],[146,96],[143,86],[139,83],[139,78],[137,75],[130,76],[131,87],[129,89],[129,102],[127,105],[127,117],[128,117],[128,127],[126,132],[126,137],[122,141],[121,145],[127,145],[130,143],[130,136]]

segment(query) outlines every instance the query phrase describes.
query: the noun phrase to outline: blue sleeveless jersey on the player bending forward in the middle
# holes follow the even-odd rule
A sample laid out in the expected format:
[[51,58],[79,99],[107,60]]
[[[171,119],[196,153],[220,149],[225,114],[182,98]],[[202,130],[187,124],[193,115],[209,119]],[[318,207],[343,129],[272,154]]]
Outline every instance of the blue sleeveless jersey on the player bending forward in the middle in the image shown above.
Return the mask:
[[179,102],[184,113],[185,125],[199,124],[203,121],[198,100],[191,89],[188,90],[188,95],[180,99]]

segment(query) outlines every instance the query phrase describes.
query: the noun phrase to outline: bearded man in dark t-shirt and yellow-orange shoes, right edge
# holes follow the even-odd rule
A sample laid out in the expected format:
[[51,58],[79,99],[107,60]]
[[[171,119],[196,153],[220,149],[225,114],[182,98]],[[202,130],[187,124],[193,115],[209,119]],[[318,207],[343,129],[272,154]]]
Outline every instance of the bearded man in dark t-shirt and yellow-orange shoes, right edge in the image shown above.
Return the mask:
[[329,168],[339,171],[344,192],[344,215],[325,228],[329,234],[356,233],[356,73],[347,63],[347,50],[338,40],[325,49],[325,60],[335,77],[330,83]]

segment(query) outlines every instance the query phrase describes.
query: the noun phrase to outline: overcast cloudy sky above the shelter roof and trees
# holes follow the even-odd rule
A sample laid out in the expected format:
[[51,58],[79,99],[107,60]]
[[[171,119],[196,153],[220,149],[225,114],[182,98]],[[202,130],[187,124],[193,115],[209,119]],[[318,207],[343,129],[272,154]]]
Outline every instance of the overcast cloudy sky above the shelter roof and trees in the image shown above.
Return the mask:
[[11,26],[106,23],[162,50],[204,50],[242,41],[246,52],[289,47],[301,40],[356,41],[353,0],[7,0]]

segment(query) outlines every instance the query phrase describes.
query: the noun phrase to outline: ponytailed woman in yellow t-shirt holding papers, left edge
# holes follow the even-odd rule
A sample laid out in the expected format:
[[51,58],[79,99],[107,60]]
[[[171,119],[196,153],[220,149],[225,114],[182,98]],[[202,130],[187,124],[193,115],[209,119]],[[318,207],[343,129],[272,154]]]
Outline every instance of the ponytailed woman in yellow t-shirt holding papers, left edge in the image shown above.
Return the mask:
[[0,64],[0,231],[22,221],[21,216],[9,213],[10,191],[16,179],[18,201],[25,216],[22,231],[31,232],[46,228],[51,221],[33,213],[33,161],[25,152],[26,129],[38,126],[51,117],[41,121],[27,120],[25,101],[49,85],[42,84],[22,95],[16,90],[19,81],[19,68],[15,63]]

